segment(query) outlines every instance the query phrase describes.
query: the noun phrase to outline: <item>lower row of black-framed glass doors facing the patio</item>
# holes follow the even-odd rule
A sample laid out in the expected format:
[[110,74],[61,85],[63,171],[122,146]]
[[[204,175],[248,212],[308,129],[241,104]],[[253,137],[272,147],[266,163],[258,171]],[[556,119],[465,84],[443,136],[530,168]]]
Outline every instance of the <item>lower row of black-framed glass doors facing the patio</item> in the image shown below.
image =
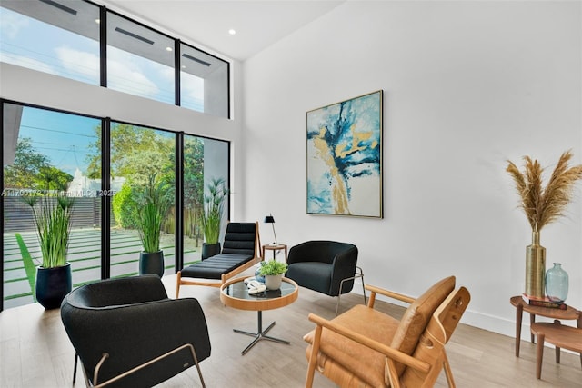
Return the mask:
[[[160,238],[166,274],[174,274],[176,264],[200,259],[205,187],[216,178],[228,187],[228,142],[12,102],[2,104],[2,114],[3,308],[35,302],[35,267],[42,255],[32,208],[24,200],[28,195],[61,191],[75,199],[67,254],[74,286],[103,278],[104,268],[106,277],[138,274],[139,200],[151,183],[169,199]],[[183,144],[180,152],[176,144]],[[177,154],[183,155],[181,170]],[[101,179],[104,160],[109,161],[107,184]],[[178,185],[183,194],[176,193]],[[180,208],[176,195],[183,195]],[[104,201],[111,204],[108,217],[101,211]],[[228,207],[226,202],[225,222]],[[180,219],[182,230],[176,226]]]

